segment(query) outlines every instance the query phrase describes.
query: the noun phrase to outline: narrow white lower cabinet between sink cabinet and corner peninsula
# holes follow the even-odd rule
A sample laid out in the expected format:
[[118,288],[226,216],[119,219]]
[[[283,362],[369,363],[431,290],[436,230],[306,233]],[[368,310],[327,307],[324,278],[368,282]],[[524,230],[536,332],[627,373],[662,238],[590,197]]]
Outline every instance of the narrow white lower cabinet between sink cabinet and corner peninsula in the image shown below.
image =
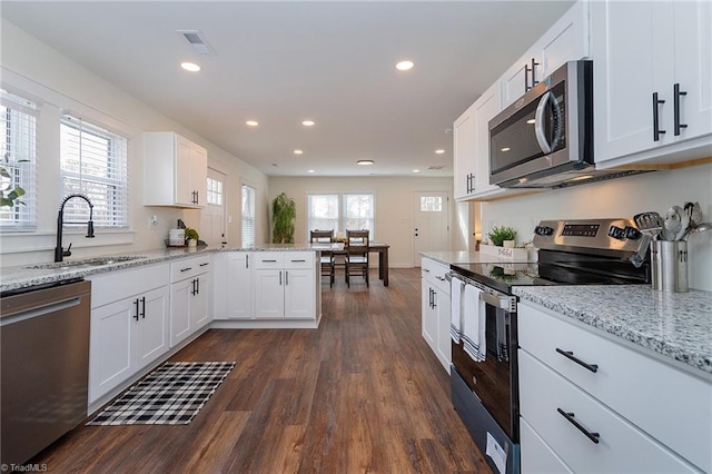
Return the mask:
[[170,345],[181,343],[210,322],[211,257],[170,264]]

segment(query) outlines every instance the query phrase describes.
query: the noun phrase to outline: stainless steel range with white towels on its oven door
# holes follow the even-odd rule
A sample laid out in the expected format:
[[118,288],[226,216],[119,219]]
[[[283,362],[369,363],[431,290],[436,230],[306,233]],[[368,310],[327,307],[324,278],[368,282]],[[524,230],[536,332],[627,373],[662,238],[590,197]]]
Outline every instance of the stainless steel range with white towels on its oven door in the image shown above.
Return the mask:
[[452,399],[494,472],[520,472],[514,286],[649,284],[650,237],[632,218],[543,220],[538,263],[452,265]]

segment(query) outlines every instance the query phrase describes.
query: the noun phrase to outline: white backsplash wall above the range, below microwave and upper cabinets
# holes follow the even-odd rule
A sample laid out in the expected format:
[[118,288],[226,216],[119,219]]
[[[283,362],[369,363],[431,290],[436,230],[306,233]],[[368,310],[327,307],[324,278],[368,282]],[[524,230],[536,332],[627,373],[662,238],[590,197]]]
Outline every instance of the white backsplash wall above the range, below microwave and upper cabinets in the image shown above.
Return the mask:
[[[483,238],[493,226],[507,225],[523,243],[532,239],[541,219],[631,217],[646,210],[664,215],[685,201],[699,201],[704,220],[712,221],[712,164],[483,203]],[[691,236],[688,245],[690,287],[712,290],[712,231]]]

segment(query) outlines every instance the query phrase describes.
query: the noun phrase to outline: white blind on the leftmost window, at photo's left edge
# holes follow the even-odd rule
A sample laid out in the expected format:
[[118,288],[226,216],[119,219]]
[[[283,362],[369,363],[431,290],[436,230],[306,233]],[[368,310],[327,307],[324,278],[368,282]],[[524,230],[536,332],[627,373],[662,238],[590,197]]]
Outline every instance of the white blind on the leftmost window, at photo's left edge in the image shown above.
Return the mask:
[[37,228],[37,105],[0,90],[0,182],[4,195],[22,188],[24,195],[0,207],[0,230],[32,231]]

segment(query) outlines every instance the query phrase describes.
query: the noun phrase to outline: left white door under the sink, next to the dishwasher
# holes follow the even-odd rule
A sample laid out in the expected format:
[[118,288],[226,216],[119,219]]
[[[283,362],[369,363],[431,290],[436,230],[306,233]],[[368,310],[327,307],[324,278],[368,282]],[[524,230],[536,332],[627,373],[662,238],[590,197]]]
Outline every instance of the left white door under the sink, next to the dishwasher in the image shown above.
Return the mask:
[[138,310],[135,300],[127,298],[91,310],[89,403],[132,374],[130,327]]

